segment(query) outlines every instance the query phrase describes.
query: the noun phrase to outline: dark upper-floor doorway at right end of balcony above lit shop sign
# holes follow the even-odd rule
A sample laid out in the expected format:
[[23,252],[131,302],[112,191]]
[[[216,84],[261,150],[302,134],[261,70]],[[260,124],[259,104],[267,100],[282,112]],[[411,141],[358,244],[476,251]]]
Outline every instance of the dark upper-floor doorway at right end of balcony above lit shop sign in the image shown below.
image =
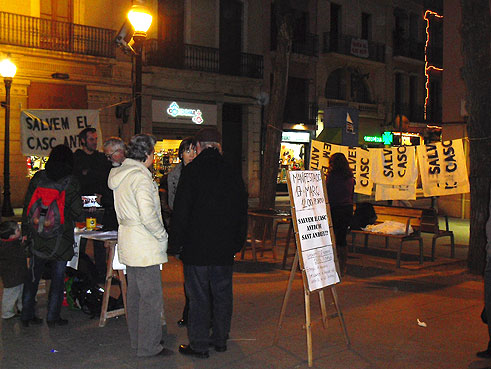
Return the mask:
[[240,75],[242,2],[220,0],[220,73]]

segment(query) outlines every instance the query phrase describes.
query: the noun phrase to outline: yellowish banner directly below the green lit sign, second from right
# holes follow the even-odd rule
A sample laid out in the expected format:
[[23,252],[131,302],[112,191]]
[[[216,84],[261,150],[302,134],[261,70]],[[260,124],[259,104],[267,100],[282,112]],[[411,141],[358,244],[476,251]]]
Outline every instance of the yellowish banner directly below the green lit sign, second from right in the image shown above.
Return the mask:
[[374,183],[407,186],[418,179],[414,146],[370,149],[370,153]]

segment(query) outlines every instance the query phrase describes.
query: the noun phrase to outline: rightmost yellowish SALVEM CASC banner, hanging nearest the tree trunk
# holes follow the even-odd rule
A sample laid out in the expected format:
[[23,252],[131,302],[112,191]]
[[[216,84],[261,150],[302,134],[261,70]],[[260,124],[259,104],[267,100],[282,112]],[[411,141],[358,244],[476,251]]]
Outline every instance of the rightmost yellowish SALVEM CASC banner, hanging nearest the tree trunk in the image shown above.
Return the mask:
[[470,191],[462,139],[420,145],[417,150],[425,196]]

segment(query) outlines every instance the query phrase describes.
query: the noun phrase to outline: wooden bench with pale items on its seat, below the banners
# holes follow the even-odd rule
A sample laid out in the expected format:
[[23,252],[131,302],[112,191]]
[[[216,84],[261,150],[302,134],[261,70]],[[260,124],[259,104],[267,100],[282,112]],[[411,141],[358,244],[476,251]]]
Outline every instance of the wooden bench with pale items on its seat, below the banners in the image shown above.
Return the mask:
[[[423,264],[423,239],[421,238],[421,220],[423,217],[423,209],[418,208],[405,208],[397,206],[384,206],[373,205],[375,213],[377,214],[377,223],[383,223],[385,221],[395,221],[405,224],[404,234],[386,234],[379,232],[369,232],[363,230],[351,230],[351,246],[353,252],[356,252],[355,236],[362,234],[365,237],[364,246],[368,247],[368,236],[379,236],[385,238],[385,247],[389,247],[389,239],[399,240],[399,248],[397,250],[397,267],[401,267],[401,253],[402,245],[404,242],[418,241],[419,243],[419,263]],[[413,232],[410,232],[411,226]]]

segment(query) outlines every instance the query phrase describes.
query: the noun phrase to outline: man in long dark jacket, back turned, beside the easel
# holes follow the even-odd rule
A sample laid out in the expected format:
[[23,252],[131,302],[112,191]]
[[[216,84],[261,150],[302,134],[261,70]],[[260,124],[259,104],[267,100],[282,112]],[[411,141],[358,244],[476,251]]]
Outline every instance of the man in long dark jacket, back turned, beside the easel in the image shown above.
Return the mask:
[[207,358],[209,345],[227,350],[232,268],[246,238],[247,193],[238,171],[223,161],[220,133],[203,128],[196,142],[198,156],[179,180],[169,244],[179,248],[189,297],[189,345],[181,345],[179,352]]

